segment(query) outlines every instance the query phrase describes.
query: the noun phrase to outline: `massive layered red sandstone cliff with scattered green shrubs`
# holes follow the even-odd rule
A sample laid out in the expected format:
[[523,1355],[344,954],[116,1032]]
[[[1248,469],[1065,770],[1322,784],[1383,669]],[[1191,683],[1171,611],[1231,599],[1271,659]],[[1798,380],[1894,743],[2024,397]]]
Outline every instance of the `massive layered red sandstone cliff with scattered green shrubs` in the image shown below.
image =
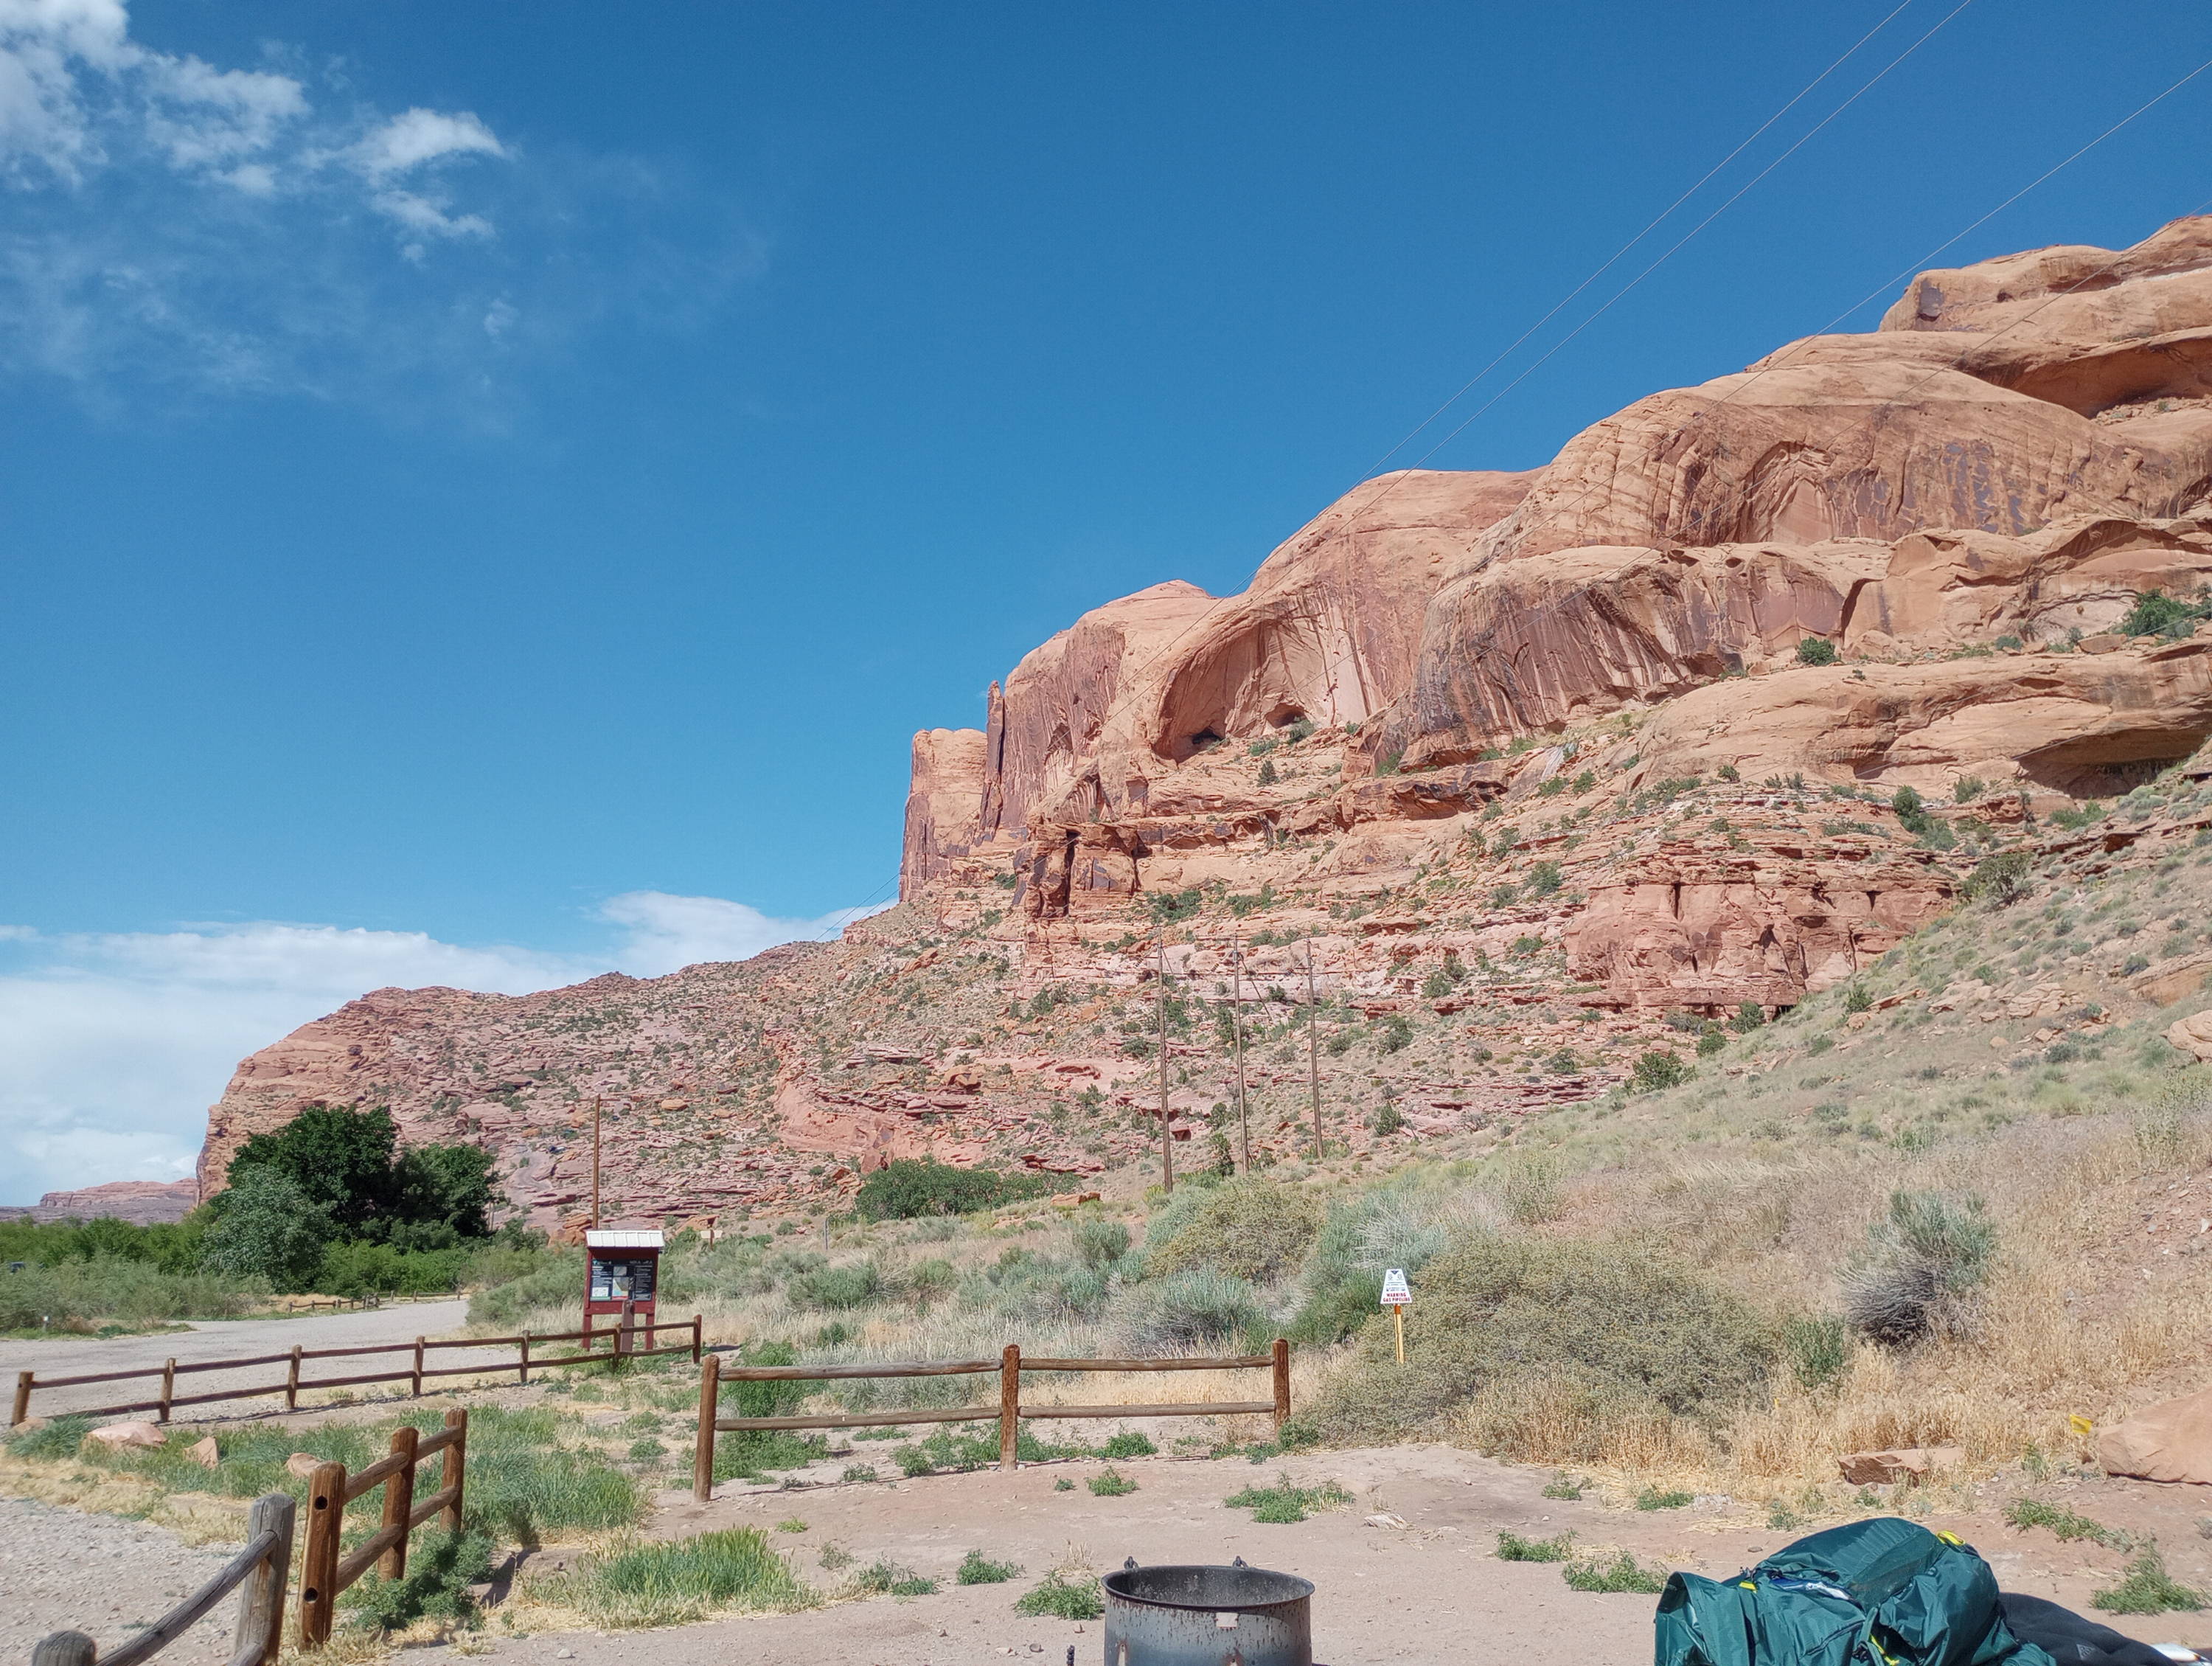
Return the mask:
[[1241,595],[1093,608],[916,735],[891,914],[374,991],[239,1066],[199,1179],[387,1104],[573,1228],[597,1100],[611,1217],[830,1208],[918,1153],[1115,1184],[1161,1115],[1294,1157],[1316,1077],[1354,1155],[1480,1148],[1854,978],[1993,852],[2130,861],[2081,803],[2212,735],[2212,624],[2117,626],[2208,580],[2212,219],[1927,272],[1542,469],[1367,480]]

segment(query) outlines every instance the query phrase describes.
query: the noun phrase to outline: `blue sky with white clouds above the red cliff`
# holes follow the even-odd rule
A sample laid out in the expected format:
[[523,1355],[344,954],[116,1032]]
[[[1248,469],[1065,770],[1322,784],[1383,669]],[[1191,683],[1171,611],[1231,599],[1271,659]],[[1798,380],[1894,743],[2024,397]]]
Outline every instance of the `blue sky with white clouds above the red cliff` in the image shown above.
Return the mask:
[[[1931,29],[1431,462],[1871,325],[2212,55],[1955,4],[1391,460]],[[177,1173],[363,987],[878,900],[916,728],[1239,589],[1893,7],[0,0],[0,1199]],[[2208,113],[1938,263],[2197,208]]]

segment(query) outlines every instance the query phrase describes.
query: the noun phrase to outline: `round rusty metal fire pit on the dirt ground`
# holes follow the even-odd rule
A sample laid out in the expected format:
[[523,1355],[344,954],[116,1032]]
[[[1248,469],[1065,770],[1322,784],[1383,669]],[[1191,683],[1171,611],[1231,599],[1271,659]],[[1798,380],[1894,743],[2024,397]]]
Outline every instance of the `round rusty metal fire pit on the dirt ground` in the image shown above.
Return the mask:
[[1130,1558],[1106,1586],[1106,1666],[1314,1666],[1314,1582]]

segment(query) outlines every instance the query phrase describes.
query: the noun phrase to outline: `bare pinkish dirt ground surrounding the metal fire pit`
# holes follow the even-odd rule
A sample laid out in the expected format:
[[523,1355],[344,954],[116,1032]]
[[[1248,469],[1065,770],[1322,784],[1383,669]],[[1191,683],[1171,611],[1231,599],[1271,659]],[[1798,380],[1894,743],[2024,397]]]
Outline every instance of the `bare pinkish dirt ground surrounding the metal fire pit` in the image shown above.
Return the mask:
[[[1509,1469],[1449,1447],[1389,1447],[1301,1456],[1263,1467],[1245,1460],[1144,1458],[1117,1465],[1137,1482],[1119,1498],[1093,1498],[1082,1485],[1099,1462],[1024,1467],[1015,1476],[978,1471],[918,1480],[759,1489],[719,1496],[710,1504],[688,1493],[661,1493],[648,1533],[681,1538],[714,1527],[770,1531],[803,1578],[836,1582],[821,1551],[836,1544],[863,1564],[889,1558],[942,1589],[931,1597],[872,1597],[830,1608],[723,1620],[637,1633],[502,1635],[498,1622],[467,1644],[515,1666],[575,1662],[630,1666],[650,1653],[668,1666],[706,1666],[730,1657],[792,1666],[980,1666],[1009,1655],[1102,1662],[1097,1622],[1024,1620],[1013,1600],[1051,1566],[1073,1558],[1097,1571],[1139,1562],[1228,1562],[1301,1573],[1316,1584],[1314,1657],[1329,1666],[1396,1666],[1398,1662],[1498,1659],[1517,1666],[1586,1666],[1650,1659],[1652,1597],[1568,1591],[1557,1564],[1500,1562],[1498,1531],[1528,1535],[1573,1531],[1588,1549],[1624,1547],[1646,1564],[1725,1578],[1778,1549],[1794,1533],[1761,1524],[1730,1500],[1701,1500],[1679,1511],[1621,1511],[1586,1500],[1542,1496],[1544,1474]],[[1358,1502],[1296,1524],[1256,1524],[1223,1498],[1276,1474],[1312,1485],[1338,1480]],[[1075,1480],[1073,1491],[1055,1482]],[[2183,1582],[2212,1575],[2212,1542],[2197,1518],[2212,1511],[2212,1489],[2081,1482],[2048,1496],[2115,1527],[2157,1531],[2168,1566]],[[2121,1555],[2059,1544],[2042,1531],[2002,1524],[2002,1498],[1984,1509],[1929,1516],[1975,1544],[2011,1591],[2048,1595],[2086,1608],[2110,1584]],[[1374,1524],[1396,1516],[1405,1527]],[[779,1522],[805,1522],[805,1533]],[[969,1549],[1024,1564],[1009,1584],[956,1586],[953,1566]],[[562,1562],[560,1549],[535,1558]],[[520,1578],[529,1580],[524,1566]],[[2152,1642],[2212,1642],[2212,1613],[2119,1620],[2121,1631]],[[449,1651],[429,1651],[449,1653]]]

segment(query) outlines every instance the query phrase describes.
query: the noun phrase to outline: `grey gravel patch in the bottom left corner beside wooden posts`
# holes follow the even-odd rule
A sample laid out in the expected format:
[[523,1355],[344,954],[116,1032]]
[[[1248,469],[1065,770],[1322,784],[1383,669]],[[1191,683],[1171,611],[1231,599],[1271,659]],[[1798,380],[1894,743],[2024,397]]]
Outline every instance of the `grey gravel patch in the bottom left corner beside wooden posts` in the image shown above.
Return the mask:
[[[146,1522],[0,1498],[0,1659],[29,1659],[40,1637],[82,1631],[106,1655],[215,1578],[237,1547],[192,1549]],[[161,1666],[230,1659],[237,1600],[161,1651]]]

